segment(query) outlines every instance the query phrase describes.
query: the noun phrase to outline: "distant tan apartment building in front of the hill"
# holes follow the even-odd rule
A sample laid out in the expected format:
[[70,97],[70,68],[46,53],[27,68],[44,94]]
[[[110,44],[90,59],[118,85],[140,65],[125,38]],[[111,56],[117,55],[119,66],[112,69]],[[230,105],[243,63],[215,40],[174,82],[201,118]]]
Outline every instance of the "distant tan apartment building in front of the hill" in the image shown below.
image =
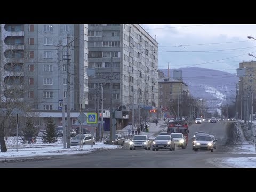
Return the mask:
[[171,109],[169,108],[174,100],[179,98],[181,102],[186,95],[189,95],[188,85],[182,80],[169,77],[158,79],[158,106],[162,111],[166,111],[166,114],[170,115]]

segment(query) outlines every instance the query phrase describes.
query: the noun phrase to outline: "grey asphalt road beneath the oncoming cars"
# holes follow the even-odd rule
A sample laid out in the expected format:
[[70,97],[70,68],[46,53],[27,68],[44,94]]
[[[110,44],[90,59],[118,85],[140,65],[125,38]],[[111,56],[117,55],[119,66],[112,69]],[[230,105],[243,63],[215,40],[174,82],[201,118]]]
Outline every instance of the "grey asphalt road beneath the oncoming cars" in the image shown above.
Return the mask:
[[[228,139],[228,129],[233,122],[217,122],[202,124],[193,124],[189,127],[189,142],[186,149],[170,150],[145,150],[136,149],[130,150],[125,146],[121,149],[107,149],[97,151],[92,154],[81,155],[65,155],[53,156],[49,160],[43,161],[29,161],[29,162],[10,162],[0,163],[0,167],[100,167],[100,168],[135,168],[135,167],[176,167],[176,168],[206,168],[217,167],[207,161],[207,159],[221,158],[221,157],[249,157],[256,155],[244,154],[228,154],[226,149],[226,141]],[[217,149],[212,153],[211,151],[193,151],[192,140],[196,131],[205,131],[213,134],[218,139]]]

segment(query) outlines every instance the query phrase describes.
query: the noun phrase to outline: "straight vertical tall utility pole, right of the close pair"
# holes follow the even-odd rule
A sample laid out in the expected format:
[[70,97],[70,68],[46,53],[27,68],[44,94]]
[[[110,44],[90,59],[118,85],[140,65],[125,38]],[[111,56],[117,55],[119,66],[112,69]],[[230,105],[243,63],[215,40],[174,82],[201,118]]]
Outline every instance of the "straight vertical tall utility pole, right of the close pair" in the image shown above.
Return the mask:
[[69,34],[67,34],[67,147],[70,148],[70,45],[69,45]]

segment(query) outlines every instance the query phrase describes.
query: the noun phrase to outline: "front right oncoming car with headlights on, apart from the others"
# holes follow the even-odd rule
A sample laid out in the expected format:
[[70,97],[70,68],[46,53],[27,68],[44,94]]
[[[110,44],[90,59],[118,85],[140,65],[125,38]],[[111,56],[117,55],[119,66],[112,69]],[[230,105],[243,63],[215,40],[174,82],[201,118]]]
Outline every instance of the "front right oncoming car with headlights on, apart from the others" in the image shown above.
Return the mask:
[[195,140],[195,150],[211,150],[213,152],[213,140],[207,135],[199,135]]

